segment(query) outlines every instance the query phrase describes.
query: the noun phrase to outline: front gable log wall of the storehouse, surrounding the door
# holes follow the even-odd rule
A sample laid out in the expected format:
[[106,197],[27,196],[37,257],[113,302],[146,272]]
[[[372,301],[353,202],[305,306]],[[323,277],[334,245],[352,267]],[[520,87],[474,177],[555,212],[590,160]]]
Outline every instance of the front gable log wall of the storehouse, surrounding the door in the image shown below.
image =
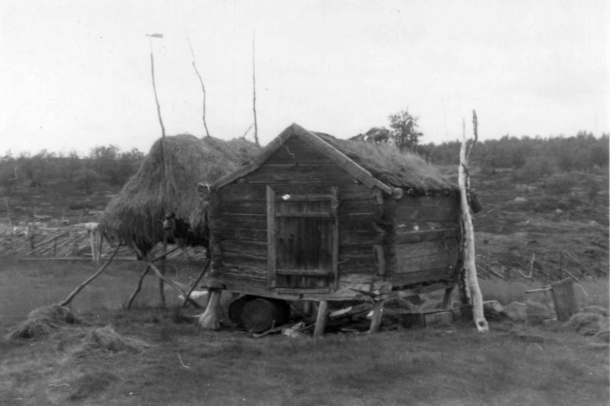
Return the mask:
[[[329,194],[338,188],[339,278],[376,275],[373,190],[298,137],[290,137],[259,169],[212,192],[212,275],[234,286],[267,280],[267,186],[275,195]],[[370,279],[370,276],[368,277]]]

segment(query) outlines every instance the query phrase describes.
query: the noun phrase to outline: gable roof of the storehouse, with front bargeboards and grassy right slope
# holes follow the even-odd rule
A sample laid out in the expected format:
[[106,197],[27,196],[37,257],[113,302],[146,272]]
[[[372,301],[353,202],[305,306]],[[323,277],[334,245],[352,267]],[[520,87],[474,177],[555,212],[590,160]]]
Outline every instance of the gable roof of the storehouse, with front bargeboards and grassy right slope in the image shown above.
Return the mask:
[[401,153],[384,143],[340,140],[321,132],[307,131],[295,123],[271,140],[248,164],[218,179],[213,186],[222,187],[258,169],[291,136],[304,140],[366,186],[378,187],[389,195],[397,187],[420,193],[457,189],[436,167],[415,154]]

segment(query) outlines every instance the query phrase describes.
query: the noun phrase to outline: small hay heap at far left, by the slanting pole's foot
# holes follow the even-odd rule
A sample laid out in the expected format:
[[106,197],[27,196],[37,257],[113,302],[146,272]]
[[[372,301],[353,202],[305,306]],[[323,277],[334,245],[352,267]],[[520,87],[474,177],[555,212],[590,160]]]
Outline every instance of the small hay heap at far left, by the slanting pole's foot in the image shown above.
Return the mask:
[[17,326],[7,336],[8,339],[37,338],[47,336],[68,325],[81,324],[82,321],[74,314],[59,305],[41,307],[32,310],[26,321]]

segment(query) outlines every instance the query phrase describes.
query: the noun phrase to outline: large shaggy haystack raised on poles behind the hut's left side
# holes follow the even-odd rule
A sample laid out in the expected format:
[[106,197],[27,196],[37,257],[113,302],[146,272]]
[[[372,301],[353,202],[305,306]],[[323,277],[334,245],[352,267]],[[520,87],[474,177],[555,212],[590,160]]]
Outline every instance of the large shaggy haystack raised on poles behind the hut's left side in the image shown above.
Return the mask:
[[166,194],[162,182],[161,142],[159,139],[152,145],[138,172],[110,201],[100,219],[107,235],[120,241],[134,241],[145,252],[162,241],[162,220],[169,211],[187,220],[196,234],[204,235],[204,206],[196,185],[213,183],[260,150],[243,139],[198,139],[188,134],[165,137],[163,148],[169,190]]

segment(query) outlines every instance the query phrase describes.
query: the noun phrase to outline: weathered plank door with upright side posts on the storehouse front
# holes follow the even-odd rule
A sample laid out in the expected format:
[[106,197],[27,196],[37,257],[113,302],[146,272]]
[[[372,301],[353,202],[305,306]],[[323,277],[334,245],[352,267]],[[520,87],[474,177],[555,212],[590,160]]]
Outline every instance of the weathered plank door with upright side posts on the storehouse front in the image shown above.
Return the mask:
[[338,283],[337,188],[329,194],[276,196],[267,187],[268,285],[329,291]]

